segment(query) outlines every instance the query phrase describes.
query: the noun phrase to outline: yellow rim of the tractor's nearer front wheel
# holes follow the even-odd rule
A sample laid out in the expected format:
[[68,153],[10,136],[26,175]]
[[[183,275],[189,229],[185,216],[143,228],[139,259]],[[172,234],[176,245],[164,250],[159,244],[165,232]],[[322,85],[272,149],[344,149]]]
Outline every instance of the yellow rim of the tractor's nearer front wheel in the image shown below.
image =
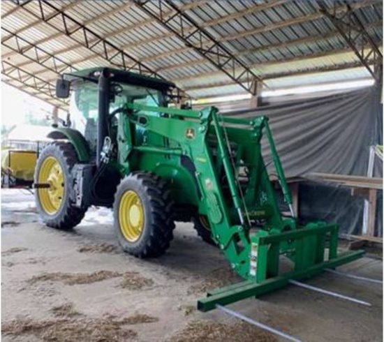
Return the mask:
[[144,209],[135,191],[126,191],[119,203],[119,227],[130,242],[138,241],[144,227]]

